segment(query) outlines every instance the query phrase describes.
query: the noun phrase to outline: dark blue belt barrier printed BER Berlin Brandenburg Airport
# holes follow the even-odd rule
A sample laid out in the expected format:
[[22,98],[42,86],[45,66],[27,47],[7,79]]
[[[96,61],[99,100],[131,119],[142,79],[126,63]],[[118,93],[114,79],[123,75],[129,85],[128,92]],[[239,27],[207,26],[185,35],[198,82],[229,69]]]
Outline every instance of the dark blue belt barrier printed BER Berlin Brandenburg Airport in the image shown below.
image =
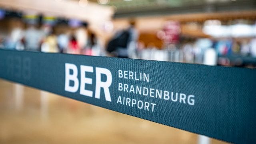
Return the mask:
[[232,143],[256,142],[256,70],[0,50],[0,78]]

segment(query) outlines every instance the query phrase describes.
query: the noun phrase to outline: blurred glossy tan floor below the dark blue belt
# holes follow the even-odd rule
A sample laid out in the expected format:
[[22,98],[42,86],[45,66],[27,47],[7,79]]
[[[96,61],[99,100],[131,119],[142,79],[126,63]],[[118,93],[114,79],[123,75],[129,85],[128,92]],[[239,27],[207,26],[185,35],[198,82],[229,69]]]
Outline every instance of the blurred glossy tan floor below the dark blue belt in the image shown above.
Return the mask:
[[196,144],[198,135],[0,79],[0,143]]

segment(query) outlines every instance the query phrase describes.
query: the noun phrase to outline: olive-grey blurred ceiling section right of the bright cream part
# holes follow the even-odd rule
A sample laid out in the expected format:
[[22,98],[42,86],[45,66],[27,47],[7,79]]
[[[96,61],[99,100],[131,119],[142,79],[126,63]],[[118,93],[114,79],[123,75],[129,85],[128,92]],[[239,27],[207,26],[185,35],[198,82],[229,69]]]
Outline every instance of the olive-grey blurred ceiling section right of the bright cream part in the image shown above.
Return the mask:
[[116,8],[115,18],[256,10],[256,0],[90,0]]

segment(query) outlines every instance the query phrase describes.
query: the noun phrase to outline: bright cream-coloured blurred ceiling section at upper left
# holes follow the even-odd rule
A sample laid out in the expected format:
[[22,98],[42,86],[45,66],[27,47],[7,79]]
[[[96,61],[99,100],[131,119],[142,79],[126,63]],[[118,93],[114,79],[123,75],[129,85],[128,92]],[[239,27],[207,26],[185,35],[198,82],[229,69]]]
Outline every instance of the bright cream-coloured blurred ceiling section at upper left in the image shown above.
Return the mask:
[[90,23],[111,20],[114,10],[87,0],[0,0],[0,8],[23,12],[25,15],[55,16]]

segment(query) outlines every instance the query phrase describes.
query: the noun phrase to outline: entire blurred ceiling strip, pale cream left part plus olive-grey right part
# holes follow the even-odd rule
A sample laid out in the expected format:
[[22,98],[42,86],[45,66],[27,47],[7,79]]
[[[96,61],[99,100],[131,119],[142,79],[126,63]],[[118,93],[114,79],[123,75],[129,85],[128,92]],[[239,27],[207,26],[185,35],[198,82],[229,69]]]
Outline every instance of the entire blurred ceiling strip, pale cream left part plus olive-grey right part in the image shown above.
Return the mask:
[[252,12],[250,17],[256,17],[256,0],[0,0],[0,8],[35,11],[89,22],[110,20],[113,17],[180,16],[241,11]]

